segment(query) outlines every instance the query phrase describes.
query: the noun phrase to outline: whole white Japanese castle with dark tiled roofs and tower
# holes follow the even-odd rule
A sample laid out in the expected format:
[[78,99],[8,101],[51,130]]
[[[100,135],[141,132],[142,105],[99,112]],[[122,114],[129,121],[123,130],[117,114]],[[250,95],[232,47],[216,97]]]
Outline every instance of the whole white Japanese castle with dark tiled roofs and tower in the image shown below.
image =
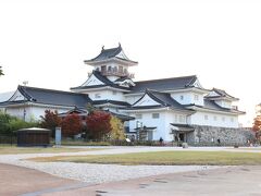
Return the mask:
[[66,112],[90,102],[135,118],[125,122],[127,134],[142,132],[149,140],[173,140],[173,132],[186,140],[186,134],[194,132],[191,125],[237,128],[238,115],[245,114],[234,107],[237,98],[217,88],[204,89],[196,75],[134,82],[128,69],[138,62],[129,60],[121,45],[102,47],[99,56],[85,63],[94,71],[80,86],[71,88],[73,93],[18,86],[0,108],[27,119],[44,114],[46,109]]

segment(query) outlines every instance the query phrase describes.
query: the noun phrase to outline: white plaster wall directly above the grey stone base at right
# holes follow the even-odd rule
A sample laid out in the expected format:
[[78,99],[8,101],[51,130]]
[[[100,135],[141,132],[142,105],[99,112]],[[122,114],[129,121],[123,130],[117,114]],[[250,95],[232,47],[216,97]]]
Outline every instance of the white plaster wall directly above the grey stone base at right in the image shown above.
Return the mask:
[[[208,118],[206,119],[206,115]],[[233,121],[232,121],[233,118]],[[196,112],[189,118],[189,124],[238,127],[238,117],[229,114],[219,114],[210,112]]]

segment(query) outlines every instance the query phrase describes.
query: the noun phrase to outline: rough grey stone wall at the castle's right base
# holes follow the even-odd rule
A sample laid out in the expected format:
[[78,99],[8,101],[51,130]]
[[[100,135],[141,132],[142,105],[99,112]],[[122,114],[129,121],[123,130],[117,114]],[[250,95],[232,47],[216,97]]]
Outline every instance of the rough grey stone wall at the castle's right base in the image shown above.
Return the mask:
[[187,143],[190,145],[246,146],[248,145],[248,140],[254,140],[254,133],[250,128],[227,128],[199,125],[192,126],[195,127],[195,132],[187,134]]

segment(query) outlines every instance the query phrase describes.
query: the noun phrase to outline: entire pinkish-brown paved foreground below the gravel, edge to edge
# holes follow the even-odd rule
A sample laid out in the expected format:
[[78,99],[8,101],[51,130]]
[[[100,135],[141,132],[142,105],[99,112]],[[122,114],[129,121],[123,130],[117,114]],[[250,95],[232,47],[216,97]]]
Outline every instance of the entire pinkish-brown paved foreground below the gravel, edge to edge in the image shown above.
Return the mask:
[[7,164],[0,164],[0,195],[4,196],[261,195],[261,167],[226,167],[98,185],[64,180],[36,170]]

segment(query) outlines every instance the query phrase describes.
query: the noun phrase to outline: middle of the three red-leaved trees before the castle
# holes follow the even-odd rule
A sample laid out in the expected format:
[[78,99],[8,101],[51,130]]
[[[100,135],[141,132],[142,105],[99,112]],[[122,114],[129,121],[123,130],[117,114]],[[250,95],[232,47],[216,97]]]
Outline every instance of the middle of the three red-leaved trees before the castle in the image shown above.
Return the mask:
[[77,113],[67,114],[62,120],[62,135],[65,137],[72,137],[82,133],[83,121]]

